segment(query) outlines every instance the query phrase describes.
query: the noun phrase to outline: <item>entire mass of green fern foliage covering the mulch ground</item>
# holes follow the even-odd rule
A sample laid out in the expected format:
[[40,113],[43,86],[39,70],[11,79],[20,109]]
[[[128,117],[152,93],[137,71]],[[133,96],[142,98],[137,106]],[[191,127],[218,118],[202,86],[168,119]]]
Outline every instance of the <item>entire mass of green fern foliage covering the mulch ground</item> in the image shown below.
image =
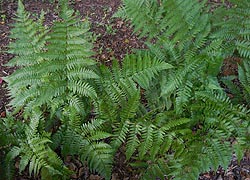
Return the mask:
[[[148,50],[106,67],[91,59],[88,22],[66,0],[51,28],[43,26],[43,15],[31,20],[19,1],[9,46],[16,56],[8,64],[19,69],[5,80],[23,122],[0,122],[4,165],[19,157],[20,172],[69,179],[60,152],[110,179],[121,150],[142,179],[197,179],[210,168],[226,168],[233,152],[241,159],[250,117],[245,2],[235,1],[214,20],[205,1],[124,0],[116,15],[131,20]],[[234,27],[236,17],[242,26]],[[231,101],[217,79],[235,50],[244,58],[235,88],[244,92],[243,104]],[[8,168],[5,176],[11,174]]]

